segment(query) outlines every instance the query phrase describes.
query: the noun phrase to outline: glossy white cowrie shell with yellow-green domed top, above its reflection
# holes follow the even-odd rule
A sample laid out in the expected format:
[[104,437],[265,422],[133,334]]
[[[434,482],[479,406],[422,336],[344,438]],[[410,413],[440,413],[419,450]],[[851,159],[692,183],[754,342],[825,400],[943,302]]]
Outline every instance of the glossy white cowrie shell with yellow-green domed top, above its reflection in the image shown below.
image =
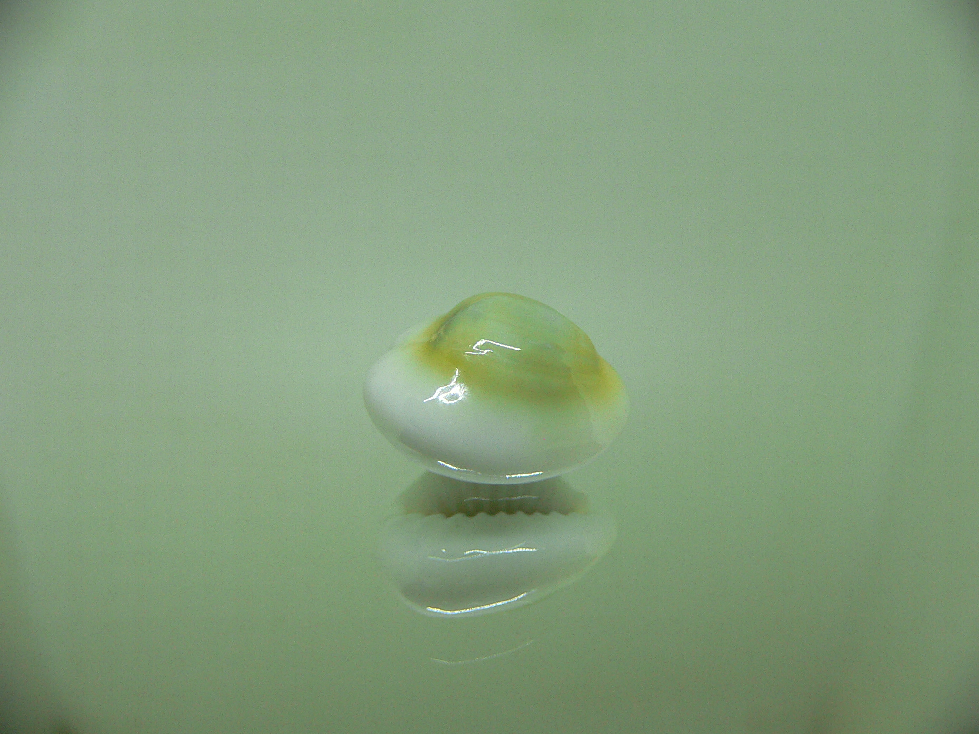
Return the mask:
[[523,296],[466,298],[371,368],[367,411],[427,468],[470,482],[553,477],[622,430],[626,389],[587,335]]

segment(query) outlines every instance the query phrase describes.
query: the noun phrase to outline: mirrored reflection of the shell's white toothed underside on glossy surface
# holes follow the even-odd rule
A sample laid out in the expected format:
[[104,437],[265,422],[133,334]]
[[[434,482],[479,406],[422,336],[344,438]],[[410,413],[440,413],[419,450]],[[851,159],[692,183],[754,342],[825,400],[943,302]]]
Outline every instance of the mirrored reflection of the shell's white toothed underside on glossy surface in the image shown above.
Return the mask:
[[555,478],[516,485],[426,473],[381,532],[381,561],[404,601],[430,617],[475,617],[529,604],[579,578],[615,540]]

